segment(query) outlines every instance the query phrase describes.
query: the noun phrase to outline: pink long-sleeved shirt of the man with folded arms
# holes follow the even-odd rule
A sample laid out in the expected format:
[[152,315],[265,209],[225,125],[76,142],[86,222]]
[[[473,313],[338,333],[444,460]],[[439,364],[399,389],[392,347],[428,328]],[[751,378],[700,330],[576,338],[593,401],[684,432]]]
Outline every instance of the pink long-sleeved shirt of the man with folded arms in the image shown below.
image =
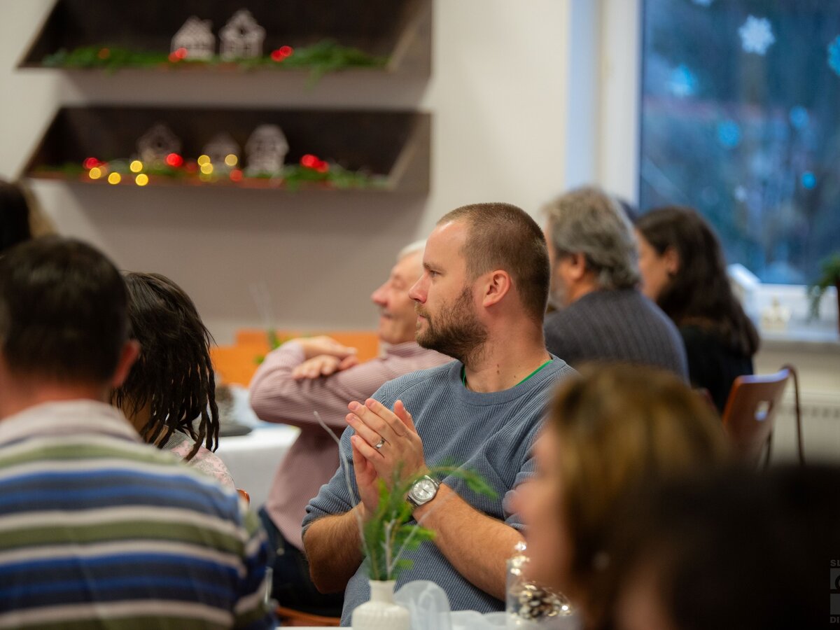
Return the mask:
[[251,381],[251,406],[260,419],[301,428],[283,458],[265,511],[288,542],[303,549],[301,521],[307,503],[339,467],[339,447],[315,419],[337,434],[347,423],[347,403],[373,396],[382,383],[416,370],[442,365],[449,357],[421,348],[413,341],[389,346],[377,359],[319,379],[296,381],[291,371],[305,359],[301,344],[287,342],[265,358]]

